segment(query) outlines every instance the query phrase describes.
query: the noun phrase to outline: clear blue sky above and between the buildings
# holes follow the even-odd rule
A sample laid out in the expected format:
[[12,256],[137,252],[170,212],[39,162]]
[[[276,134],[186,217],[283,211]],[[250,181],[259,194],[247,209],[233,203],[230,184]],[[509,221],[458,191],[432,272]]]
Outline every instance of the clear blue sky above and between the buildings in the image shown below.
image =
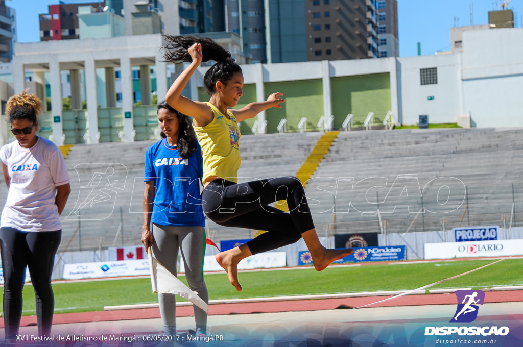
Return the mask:
[[[96,1],[96,0],[92,0]],[[67,3],[89,2],[67,0]],[[488,23],[488,11],[499,9],[501,0],[398,0],[400,56],[417,55],[417,42],[422,54],[450,50],[450,28]],[[40,41],[38,15],[48,13],[48,5],[59,0],[6,0],[16,9],[18,42]],[[516,27],[523,27],[523,0],[511,0]],[[456,19],[459,18],[459,19]]]

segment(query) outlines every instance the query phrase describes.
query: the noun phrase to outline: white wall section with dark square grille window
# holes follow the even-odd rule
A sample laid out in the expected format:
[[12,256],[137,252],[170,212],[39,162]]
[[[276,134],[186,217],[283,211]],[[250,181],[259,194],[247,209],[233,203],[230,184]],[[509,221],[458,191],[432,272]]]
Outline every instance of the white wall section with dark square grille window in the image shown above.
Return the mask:
[[[416,124],[427,114],[429,123],[454,123],[461,114],[460,54],[401,57],[398,62],[400,122]],[[438,83],[421,85],[420,69],[437,67]],[[434,100],[427,97],[433,96]]]

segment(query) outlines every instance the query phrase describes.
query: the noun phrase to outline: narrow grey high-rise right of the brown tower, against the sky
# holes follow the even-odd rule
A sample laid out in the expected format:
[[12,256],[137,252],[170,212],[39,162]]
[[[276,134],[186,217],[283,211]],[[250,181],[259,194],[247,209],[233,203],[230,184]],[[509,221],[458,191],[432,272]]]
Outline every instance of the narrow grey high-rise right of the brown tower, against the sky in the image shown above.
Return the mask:
[[397,0],[378,0],[377,7],[379,56],[400,56]]

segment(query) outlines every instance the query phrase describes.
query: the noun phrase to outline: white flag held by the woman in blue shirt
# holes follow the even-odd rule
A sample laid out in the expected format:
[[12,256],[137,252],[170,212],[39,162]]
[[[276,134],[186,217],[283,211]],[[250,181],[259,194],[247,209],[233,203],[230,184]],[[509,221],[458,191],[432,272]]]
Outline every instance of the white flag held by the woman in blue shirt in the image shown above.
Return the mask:
[[151,285],[153,287],[153,293],[176,294],[189,300],[191,303],[204,310],[205,313],[209,311],[209,305],[204,302],[196,292],[191,291],[188,286],[178,280],[175,275],[170,273],[162,264],[153,258],[151,255],[151,248],[147,249],[147,255],[149,255],[149,264],[151,267]]

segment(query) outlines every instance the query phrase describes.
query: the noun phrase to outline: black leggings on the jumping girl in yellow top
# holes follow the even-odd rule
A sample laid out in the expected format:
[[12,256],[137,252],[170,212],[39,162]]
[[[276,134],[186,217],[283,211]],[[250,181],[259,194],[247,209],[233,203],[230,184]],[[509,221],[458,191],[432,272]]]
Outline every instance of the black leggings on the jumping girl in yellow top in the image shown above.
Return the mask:
[[[269,206],[280,200],[287,200],[289,213]],[[268,230],[247,242],[253,255],[293,244],[314,228],[305,190],[296,177],[237,184],[217,179],[203,190],[202,204],[203,212],[217,224]]]

